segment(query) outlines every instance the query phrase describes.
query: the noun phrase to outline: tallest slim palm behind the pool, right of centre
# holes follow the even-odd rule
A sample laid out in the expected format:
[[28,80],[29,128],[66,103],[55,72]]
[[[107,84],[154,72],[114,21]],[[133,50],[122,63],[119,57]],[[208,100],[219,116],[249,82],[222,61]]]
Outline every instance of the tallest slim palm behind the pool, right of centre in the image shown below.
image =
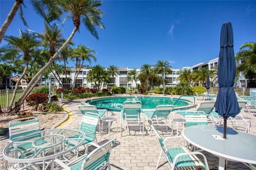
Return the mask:
[[162,74],[163,91],[164,91],[165,90],[165,83],[164,83],[165,74],[170,73],[172,71],[172,67],[168,61],[157,61],[154,69],[156,73]]

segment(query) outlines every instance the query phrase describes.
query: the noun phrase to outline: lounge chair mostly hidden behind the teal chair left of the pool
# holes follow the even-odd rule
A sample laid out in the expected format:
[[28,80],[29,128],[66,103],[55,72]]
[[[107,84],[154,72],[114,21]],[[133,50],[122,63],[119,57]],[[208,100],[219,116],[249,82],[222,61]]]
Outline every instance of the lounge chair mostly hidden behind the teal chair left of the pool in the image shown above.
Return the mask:
[[[86,112],[92,112],[92,113],[97,113],[99,114],[100,120],[108,114],[107,109],[97,109],[97,107],[93,106],[93,105],[85,105],[82,104],[80,106],[78,106],[78,108],[81,110],[82,114],[84,115]],[[101,127],[100,127],[100,121],[99,121],[99,132],[101,133]]]

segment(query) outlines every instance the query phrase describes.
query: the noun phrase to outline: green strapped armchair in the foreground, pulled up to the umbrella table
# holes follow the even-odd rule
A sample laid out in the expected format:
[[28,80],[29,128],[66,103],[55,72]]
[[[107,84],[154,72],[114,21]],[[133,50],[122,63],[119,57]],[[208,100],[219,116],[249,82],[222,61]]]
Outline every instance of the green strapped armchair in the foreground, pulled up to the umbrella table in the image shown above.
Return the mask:
[[[165,146],[165,143],[167,140],[182,138],[181,136],[167,137],[163,140],[163,138],[161,137],[161,135],[159,135],[157,130],[154,128],[154,126],[152,128],[156,133],[159,143],[161,145],[161,152],[157,160],[156,169],[158,168],[161,155],[164,152],[165,157],[168,163],[170,164],[172,170],[175,167],[182,168],[182,167],[195,167],[195,166],[201,166],[209,170],[206,157],[201,152],[190,152],[190,150],[186,147],[167,148]],[[201,160],[196,155],[201,155],[204,158],[204,163],[202,163]]]

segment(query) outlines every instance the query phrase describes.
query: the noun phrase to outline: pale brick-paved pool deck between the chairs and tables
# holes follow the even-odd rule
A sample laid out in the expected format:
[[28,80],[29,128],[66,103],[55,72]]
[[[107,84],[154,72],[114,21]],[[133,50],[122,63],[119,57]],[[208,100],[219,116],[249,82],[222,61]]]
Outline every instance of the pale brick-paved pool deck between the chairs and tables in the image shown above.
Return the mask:
[[[85,99],[79,99],[71,101],[66,104],[66,109],[74,113],[73,118],[66,122],[62,128],[77,128],[78,123],[81,122],[82,114],[78,109],[78,106],[83,103]],[[197,103],[200,104],[202,100],[197,100]],[[190,109],[195,110],[195,109]],[[117,145],[113,148],[110,155],[110,164],[111,169],[155,169],[157,158],[160,152],[160,145],[156,135],[153,133],[152,136],[150,134],[141,135],[138,129],[129,130],[125,129],[123,131],[123,137],[121,138],[120,133],[120,116],[118,112],[108,112],[110,116],[115,116],[118,122],[118,128],[116,123],[113,123],[111,126],[110,136],[107,134],[107,130],[103,132],[102,135],[97,133],[98,142],[116,138]],[[251,134],[256,135],[256,117],[253,117],[251,114],[244,112],[242,110],[242,115],[246,118],[251,119],[252,123],[252,131]],[[180,115],[175,114],[175,118],[178,118]],[[105,126],[104,126],[105,129]],[[244,128],[239,128],[243,130]],[[163,138],[172,136],[170,133],[165,132],[165,127],[162,129],[158,129],[158,132],[163,136]],[[117,131],[117,132],[116,132]],[[135,134],[135,135],[134,135]],[[2,152],[4,146],[6,146],[7,138],[0,139],[0,151]],[[170,141],[167,143],[168,146],[178,147],[183,145],[183,139]],[[81,147],[82,148],[82,147]],[[210,154],[209,152],[203,151],[203,154],[207,158],[207,162],[209,164],[210,169],[218,169],[219,158]],[[3,164],[3,160],[0,160],[0,164]],[[1,168],[1,167],[0,167]],[[159,163],[158,169],[170,169],[169,164],[166,161],[166,158],[162,155],[161,161]],[[186,168],[190,169],[190,168]],[[249,169],[242,163],[237,162],[228,162],[227,169]]]

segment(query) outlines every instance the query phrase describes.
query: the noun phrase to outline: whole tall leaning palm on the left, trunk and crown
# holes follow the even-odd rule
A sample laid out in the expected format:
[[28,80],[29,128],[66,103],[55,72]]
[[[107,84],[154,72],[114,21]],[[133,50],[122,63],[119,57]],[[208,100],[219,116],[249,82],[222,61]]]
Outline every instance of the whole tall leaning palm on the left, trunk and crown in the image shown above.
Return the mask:
[[37,82],[40,80],[40,77],[44,73],[44,71],[54,62],[54,60],[59,56],[61,51],[66,48],[69,44],[71,39],[74,37],[76,31],[79,29],[79,26],[84,23],[85,28],[89,30],[92,35],[99,39],[98,32],[95,26],[99,26],[100,28],[104,29],[101,22],[102,18],[102,11],[99,9],[102,2],[101,1],[92,1],[92,0],[81,0],[81,1],[69,1],[69,0],[56,0],[56,1],[42,1],[42,6],[47,6],[51,10],[47,11],[50,12],[50,16],[52,18],[60,18],[63,13],[68,14],[67,18],[71,18],[73,20],[74,28],[65,41],[65,43],[58,49],[57,52],[50,58],[50,60],[42,67],[41,70],[37,72],[37,74],[31,79],[28,83],[27,88],[23,91],[20,99],[16,103],[15,107],[10,112],[18,112],[22,102],[25,98],[29,95],[31,90],[36,86]]

